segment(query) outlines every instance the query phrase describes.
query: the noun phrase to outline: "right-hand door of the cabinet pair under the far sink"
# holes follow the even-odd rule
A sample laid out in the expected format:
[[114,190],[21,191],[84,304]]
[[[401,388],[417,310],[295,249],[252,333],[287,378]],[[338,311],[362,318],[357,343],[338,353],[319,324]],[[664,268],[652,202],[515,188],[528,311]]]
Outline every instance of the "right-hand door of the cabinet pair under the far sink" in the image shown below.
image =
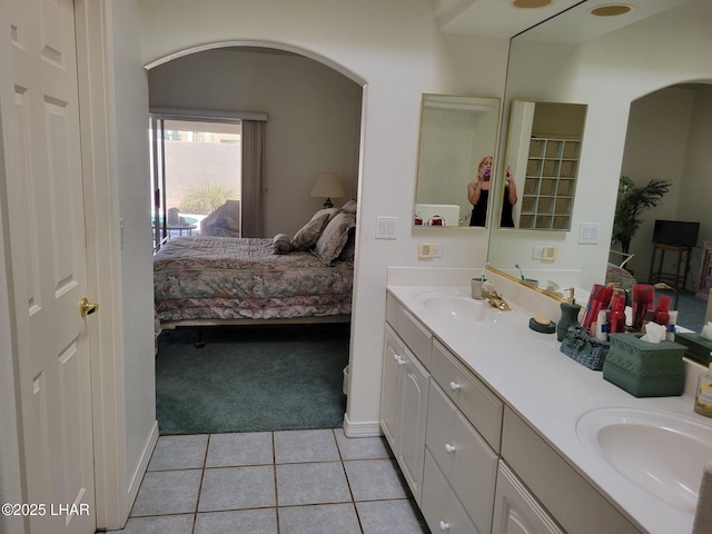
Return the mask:
[[429,374],[406,348],[400,397],[398,462],[413,496],[421,502]]

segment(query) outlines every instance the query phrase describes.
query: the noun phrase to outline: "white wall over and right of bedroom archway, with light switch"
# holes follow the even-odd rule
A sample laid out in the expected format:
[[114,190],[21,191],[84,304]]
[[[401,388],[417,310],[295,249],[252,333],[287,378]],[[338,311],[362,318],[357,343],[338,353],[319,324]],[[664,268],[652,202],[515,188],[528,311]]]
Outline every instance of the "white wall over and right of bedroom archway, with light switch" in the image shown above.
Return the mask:
[[[441,34],[428,0],[141,0],[140,7],[147,65],[200,44],[268,41],[365,86],[348,419],[354,432],[373,432],[386,267],[483,265],[487,254],[485,230],[411,228],[421,93],[500,98],[508,41]],[[398,217],[396,240],[374,239],[379,215]],[[433,231],[444,258],[418,264],[417,244],[433,241]]]

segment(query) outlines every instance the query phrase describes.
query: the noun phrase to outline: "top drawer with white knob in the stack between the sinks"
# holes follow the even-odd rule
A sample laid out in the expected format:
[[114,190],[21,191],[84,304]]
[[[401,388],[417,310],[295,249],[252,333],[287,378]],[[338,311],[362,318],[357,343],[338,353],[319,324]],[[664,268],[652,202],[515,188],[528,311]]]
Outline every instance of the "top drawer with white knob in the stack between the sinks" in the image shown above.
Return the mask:
[[504,404],[437,339],[433,340],[431,373],[445,394],[495,452],[500,451]]

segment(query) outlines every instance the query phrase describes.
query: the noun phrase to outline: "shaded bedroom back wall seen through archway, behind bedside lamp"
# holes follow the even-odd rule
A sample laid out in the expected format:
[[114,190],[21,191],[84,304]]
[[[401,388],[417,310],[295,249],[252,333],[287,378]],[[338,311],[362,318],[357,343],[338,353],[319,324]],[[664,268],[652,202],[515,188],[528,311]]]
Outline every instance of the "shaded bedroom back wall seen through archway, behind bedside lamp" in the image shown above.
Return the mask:
[[266,112],[264,236],[294,235],[323,208],[317,176],[337,172],[356,197],[362,87],[296,55],[217,49],[148,71],[150,106]]

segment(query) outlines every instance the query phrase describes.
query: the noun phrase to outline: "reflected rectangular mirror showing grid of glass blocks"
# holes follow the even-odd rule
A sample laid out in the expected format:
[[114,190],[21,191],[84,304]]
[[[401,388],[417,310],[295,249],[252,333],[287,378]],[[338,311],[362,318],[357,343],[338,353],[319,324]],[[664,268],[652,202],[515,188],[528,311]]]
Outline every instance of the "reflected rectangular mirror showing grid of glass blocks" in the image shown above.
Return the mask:
[[512,102],[501,227],[571,229],[586,109]]

